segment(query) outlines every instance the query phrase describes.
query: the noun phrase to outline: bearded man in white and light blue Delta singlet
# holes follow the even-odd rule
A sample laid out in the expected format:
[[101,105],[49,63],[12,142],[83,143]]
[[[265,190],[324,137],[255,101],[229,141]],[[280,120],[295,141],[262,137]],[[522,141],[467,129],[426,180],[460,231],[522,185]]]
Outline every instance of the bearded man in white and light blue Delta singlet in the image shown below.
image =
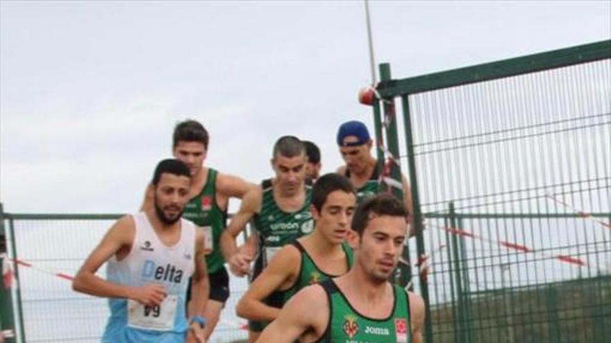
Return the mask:
[[[160,161],[151,182],[153,207],[112,225],[78,271],[72,288],[108,297],[102,342],[205,342],[201,317],[208,299],[201,228],[181,219],[190,173],[176,159]],[[108,280],[95,273],[108,261]],[[192,277],[192,306],[186,306]],[[187,322],[187,312],[190,322]]]

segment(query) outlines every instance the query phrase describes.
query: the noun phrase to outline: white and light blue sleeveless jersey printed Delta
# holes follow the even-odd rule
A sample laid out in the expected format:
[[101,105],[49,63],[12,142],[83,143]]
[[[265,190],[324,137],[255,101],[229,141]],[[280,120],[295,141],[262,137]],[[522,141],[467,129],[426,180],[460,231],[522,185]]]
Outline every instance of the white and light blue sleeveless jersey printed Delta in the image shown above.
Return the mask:
[[167,247],[144,212],[133,215],[135,235],[131,251],[121,261],[107,263],[108,281],[122,285],[163,285],[167,297],[158,306],[131,299],[109,300],[110,319],[103,342],[184,342],[188,328],[185,298],[194,271],[195,227],[181,219],[181,238]]

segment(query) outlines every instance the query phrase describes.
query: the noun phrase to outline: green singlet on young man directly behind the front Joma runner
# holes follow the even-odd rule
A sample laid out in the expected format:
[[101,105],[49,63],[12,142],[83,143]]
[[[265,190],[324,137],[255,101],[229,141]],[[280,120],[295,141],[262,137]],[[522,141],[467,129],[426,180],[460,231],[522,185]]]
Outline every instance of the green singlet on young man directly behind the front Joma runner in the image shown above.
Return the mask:
[[[320,270],[314,260],[312,260],[312,257],[305,251],[303,245],[299,243],[299,240],[295,240],[292,245],[294,245],[301,253],[301,267],[299,267],[299,275],[291,288],[283,292],[283,303],[286,303],[294,294],[296,294],[296,292],[299,292],[301,288],[340,276],[330,275]],[[344,253],[346,254],[346,271],[348,271],[352,267],[354,254],[352,252],[352,248],[349,247],[346,242],[342,243],[342,249],[344,249]]]

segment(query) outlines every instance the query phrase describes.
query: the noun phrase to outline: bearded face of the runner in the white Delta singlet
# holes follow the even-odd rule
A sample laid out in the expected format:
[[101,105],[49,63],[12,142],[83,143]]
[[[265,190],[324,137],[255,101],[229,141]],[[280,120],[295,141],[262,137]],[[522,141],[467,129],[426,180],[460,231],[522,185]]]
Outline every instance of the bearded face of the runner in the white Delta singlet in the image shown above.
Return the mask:
[[191,179],[171,173],[162,173],[155,186],[155,212],[159,220],[167,225],[181,218],[185,204],[189,201]]

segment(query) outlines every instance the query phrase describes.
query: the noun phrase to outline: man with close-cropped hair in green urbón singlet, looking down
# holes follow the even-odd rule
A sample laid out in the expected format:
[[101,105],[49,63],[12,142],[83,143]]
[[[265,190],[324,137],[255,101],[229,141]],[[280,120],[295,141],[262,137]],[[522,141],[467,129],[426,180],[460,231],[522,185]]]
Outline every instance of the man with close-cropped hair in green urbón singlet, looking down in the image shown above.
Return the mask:
[[[221,248],[231,272],[244,276],[251,256],[240,252],[235,237],[254,219],[259,241],[259,255],[252,279],[260,274],[278,250],[314,229],[310,213],[311,187],[305,185],[305,148],[296,137],[284,136],[274,144],[271,166],[276,174],[269,188],[253,188],[242,199],[240,210],[221,236]],[[269,300],[278,304],[279,299]],[[279,304],[276,306],[280,306]],[[264,324],[249,323],[249,342],[254,342]]]

